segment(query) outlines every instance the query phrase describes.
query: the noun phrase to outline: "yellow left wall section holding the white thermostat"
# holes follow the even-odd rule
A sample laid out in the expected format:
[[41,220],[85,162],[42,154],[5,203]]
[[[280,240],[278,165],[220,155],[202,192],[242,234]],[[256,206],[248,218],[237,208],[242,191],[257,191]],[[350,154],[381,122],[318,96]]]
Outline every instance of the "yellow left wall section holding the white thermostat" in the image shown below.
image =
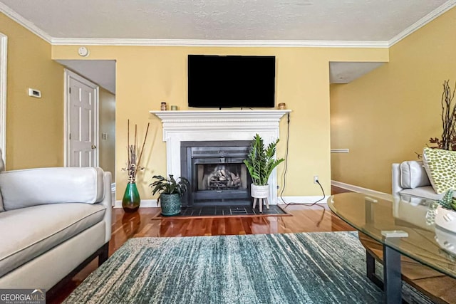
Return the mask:
[[63,67],[49,43],[4,14],[0,32],[8,36],[6,169],[63,166]]

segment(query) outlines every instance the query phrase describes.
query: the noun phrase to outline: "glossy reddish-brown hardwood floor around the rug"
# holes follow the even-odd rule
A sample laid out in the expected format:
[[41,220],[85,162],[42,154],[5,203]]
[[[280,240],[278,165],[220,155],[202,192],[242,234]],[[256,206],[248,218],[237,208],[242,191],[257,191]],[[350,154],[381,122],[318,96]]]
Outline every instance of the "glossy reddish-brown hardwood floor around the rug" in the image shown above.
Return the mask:
[[[332,187],[331,194],[346,192]],[[323,205],[324,206],[324,205]],[[113,231],[109,255],[134,237],[165,236],[219,236],[235,234],[286,234],[312,231],[354,230],[326,207],[300,204],[282,205],[293,216],[227,216],[204,218],[161,218],[160,208],[140,208],[127,214],[123,209],[113,209]],[[158,216],[158,217],[157,217]],[[83,268],[47,303],[61,303],[98,266],[93,261]]]

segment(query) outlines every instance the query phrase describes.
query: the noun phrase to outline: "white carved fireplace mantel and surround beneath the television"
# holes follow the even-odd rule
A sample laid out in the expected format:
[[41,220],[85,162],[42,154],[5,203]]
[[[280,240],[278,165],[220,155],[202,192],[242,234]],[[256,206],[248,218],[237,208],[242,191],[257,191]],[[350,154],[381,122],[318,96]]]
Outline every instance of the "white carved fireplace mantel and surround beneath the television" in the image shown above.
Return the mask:
[[[252,140],[259,134],[265,145],[279,138],[281,117],[291,110],[178,110],[150,111],[162,120],[166,142],[167,174],[180,177],[180,142]],[[271,196],[276,204],[276,171],[269,177]]]

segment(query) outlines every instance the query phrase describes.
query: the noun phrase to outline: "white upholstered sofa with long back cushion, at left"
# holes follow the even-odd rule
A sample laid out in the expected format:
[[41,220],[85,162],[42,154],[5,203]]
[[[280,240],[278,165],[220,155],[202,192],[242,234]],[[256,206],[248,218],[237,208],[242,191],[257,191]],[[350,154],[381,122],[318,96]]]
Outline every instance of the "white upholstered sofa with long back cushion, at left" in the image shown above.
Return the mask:
[[110,172],[3,170],[0,159],[0,288],[53,293],[96,256],[108,258]]

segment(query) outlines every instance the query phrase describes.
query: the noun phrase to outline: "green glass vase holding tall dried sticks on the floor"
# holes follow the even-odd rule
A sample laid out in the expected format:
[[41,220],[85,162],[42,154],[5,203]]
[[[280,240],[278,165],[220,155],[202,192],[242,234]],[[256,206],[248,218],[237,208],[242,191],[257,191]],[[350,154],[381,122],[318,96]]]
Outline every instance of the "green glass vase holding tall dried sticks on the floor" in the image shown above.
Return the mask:
[[144,141],[142,146],[138,142],[138,127],[135,125],[135,136],[133,137],[133,145],[130,145],[130,120],[128,120],[128,144],[127,144],[127,153],[128,153],[128,162],[127,167],[123,170],[128,172],[128,184],[125,189],[125,194],[123,194],[122,207],[125,212],[135,212],[139,209],[141,198],[138,192],[138,187],[136,187],[136,175],[138,170],[144,169],[140,167],[142,152],[144,151],[145,140],[147,139],[147,132],[149,131],[149,123],[147,123],[147,128],[145,130]]

